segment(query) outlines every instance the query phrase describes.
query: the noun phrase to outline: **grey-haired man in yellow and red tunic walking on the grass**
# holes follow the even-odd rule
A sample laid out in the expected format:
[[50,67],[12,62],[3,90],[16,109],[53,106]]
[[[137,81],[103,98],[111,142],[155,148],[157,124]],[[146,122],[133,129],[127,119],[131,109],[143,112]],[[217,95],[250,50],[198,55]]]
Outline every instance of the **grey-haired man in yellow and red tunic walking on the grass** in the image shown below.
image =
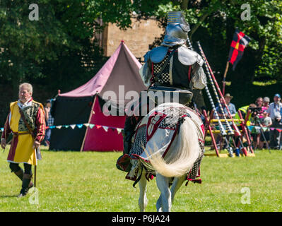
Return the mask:
[[[10,113],[1,136],[1,147],[6,148],[10,133],[13,134],[7,161],[11,171],[22,181],[22,189],[18,197],[28,194],[33,186],[31,182],[32,165],[40,159],[40,143],[45,136],[45,112],[43,105],[33,100],[33,86],[23,83],[19,86],[19,100],[11,102]],[[24,171],[19,163],[23,163]]]

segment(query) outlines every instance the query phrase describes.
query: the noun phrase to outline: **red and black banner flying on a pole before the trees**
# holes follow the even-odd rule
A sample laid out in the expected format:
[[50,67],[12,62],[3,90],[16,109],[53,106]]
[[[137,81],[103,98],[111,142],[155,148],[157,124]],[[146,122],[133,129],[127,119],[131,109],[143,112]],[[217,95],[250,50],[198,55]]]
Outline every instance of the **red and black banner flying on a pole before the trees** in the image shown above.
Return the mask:
[[242,58],[244,49],[247,47],[250,40],[251,39],[247,35],[236,28],[228,57],[228,61],[233,64],[233,71],[235,70],[238,61]]

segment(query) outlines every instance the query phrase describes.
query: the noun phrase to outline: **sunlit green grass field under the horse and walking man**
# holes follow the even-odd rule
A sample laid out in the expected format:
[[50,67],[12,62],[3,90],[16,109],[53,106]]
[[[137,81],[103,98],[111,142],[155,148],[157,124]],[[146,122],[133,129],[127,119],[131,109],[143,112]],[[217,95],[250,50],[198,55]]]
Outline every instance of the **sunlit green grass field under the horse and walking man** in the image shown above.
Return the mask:
[[[20,180],[11,173],[6,153],[0,154],[0,211],[139,211],[139,186],[115,167],[120,153],[42,151],[37,167],[39,204],[28,194],[16,198]],[[282,151],[256,157],[204,157],[203,184],[183,186],[172,211],[281,211]],[[242,204],[250,191],[250,204]],[[155,211],[159,196],[155,179],[148,183],[147,211]]]

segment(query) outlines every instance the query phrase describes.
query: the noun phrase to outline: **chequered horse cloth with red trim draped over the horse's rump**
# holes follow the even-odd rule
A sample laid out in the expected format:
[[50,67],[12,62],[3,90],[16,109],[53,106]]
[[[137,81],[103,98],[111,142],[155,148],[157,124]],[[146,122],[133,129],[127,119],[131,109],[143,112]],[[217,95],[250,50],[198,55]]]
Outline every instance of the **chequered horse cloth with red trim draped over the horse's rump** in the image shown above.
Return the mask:
[[[199,166],[204,156],[204,125],[199,115],[194,112],[194,110],[184,105],[178,103],[159,105],[140,121],[137,125],[134,142],[129,153],[131,159],[137,160],[140,158],[149,162],[148,153],[144,151],[145,149],[155,150],[155,152],[160,152],[160,154],[165,157],[165,154],[168,152],[170,145],[180,129],[182,121],[184,121],[186,117],[192,119],[192,121],[197,124],[197,128],[201,128],[201,130],[197,131],[201,155],[194,163],[192,169],[187,172],[187,179],[201,183],[201,179],[196,179],[196,177],[199,177]],[[150,153],[150,155],[154,154],[155,153]],[[136,175],[132,175],[135,174],[135,172],[138,172],[138,170],[131,170],[126,178],[135,180]]]

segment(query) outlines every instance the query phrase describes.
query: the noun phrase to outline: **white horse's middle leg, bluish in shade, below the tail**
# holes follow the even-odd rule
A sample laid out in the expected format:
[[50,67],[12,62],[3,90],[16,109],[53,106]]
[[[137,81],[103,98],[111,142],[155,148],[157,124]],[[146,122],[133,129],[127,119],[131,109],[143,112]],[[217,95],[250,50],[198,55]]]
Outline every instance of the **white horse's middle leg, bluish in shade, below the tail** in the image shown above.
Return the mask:
[[[156,182],[158,189],[160,190],[160,198],[157,201],[157,210],[163,210],[163,212],[170,212],[171,209],[171,192],[169,187],[168,177],[163,177],[161,174],[156,175]],[[162,208],[160,208],[160,206]]]

